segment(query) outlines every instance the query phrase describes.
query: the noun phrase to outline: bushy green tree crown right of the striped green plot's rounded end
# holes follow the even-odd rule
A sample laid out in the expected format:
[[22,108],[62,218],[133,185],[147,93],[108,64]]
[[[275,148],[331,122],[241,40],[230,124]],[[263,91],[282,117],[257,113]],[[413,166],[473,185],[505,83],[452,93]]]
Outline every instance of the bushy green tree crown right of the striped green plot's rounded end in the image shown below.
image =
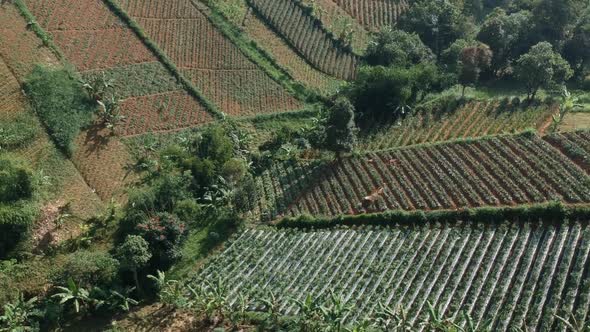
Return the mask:
[[371,66],[408,66],[434,61],[434,54],[417,34],[385,27],[369,44],[365,59]]

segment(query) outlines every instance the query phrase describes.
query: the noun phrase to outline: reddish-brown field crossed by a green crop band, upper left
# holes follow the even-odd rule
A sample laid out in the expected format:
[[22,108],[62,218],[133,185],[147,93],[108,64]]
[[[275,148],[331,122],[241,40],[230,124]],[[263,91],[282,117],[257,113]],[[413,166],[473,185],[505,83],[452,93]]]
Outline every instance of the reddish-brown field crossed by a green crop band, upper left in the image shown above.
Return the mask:
[[[84,77],[105,73],[121,91],[119,134],[187,128],[213,120],[102,1],[25,0],[43,29]],[[92,19],[80,13],[91,15]],[[137,107],[141,105],[142,107]]]

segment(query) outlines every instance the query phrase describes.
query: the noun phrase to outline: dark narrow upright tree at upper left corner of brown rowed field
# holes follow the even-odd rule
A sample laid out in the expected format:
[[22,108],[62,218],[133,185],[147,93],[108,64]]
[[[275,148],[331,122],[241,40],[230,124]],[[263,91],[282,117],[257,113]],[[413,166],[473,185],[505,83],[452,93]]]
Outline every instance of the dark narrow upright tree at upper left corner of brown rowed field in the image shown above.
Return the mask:
[[326,148],[336,152],[338,157],[344,152],[351,152],[357,132],[354,106],[347,98],[336,99],[326,120]]

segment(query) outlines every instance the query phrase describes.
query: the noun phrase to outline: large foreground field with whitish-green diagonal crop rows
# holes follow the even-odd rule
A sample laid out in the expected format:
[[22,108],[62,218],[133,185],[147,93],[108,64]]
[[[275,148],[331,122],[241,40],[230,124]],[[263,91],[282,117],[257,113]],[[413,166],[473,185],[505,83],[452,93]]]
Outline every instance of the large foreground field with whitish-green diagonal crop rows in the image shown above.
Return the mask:
[[418,327],[431,302],[492,331],[561,331],[555,314],[588,318],[589,252],[586,220],[247,230],[200,276],[220,277],[232,301],[272,291],[288,315],[299,310],[289,298],[333,291],[352,305],[347,322],[374,317],[381,302],[405,308]]

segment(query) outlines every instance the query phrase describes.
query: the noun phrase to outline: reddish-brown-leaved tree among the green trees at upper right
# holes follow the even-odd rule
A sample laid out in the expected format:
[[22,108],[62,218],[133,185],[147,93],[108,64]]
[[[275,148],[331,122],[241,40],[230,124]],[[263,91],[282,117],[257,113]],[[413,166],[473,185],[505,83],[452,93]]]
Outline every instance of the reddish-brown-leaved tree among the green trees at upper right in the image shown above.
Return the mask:
[[461,52],[461,71],[459,83],[463,85],[461,96],[465,96],[467,85],[476,85],[482,71],[487,70],[492,63],[492,51],[485,44],[464,48]]

